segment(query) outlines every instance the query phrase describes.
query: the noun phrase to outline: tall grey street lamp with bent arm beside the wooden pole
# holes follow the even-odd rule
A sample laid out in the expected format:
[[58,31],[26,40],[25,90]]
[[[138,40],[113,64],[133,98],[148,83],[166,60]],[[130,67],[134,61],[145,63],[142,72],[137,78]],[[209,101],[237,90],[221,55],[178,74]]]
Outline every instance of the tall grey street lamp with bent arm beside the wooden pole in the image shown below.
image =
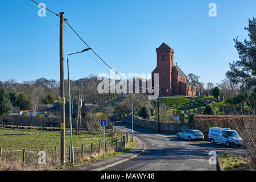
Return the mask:
[[[80,52],[70,53],[70,55],[75,55],[76,53],[82,53],[85,51],[89,51],[91,48],[84,49]],[[67,60],[68,62],[68,60]],[[69,63],[68,63],[68,99],[69,99],[69,126],[70,126],[70,152],[71,152],[71,163],[74,162],[74,150],[72,144],[72,115],[71,115],[71,96],[70,96],[70,81],[69,81]],[[78,108],[77,108],[78,109]]]

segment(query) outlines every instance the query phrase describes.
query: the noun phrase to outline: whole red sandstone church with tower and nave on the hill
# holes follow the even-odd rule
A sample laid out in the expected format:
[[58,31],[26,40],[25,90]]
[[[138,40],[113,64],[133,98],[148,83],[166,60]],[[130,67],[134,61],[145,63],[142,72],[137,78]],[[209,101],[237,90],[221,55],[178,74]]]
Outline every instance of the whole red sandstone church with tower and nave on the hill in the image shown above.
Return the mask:
[[154,80],[154,73],[159,73],[160,96],[195,96],[197,86],[189,83],[183,71],[174,65],[174,49],[163,43],[156,53],[157,65],[151,74]]

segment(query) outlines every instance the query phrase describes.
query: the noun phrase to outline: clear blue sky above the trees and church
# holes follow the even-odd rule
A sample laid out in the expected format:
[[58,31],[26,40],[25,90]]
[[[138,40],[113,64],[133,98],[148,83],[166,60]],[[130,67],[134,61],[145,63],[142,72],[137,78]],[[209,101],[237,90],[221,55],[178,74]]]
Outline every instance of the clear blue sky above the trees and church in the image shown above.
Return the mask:
[[[256,14],[253,0],[37,1],[56,13],[64,11],[69,24],[119,73],[151,73],[155,48],[164,42],[175,50],[174,62],[183,72],[200,76],[205,84],[219,82],[238,59],[233,38],[247,38],[243,28]],[[208,15],[212,2],[216,17]],[[49,12],[39,17],[38,10],[30,0],[0,0],[0,80],[59,80],[59,18]],[[64,27],[67,78],[67,55],[87,47]],[[110,72],[92,52],[70,61],[72,80]]]

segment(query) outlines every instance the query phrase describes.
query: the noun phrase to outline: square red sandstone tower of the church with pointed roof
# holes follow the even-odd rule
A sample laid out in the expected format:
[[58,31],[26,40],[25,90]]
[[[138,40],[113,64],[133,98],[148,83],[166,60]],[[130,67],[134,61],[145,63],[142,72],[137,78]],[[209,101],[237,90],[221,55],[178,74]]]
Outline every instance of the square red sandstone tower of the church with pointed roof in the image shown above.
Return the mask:
[[154,73],[159,73],[159,91],[160,95],[171,96],[171,71],[174,67],[174,49],[167,44],[162,43],[156,48],[157,65]]

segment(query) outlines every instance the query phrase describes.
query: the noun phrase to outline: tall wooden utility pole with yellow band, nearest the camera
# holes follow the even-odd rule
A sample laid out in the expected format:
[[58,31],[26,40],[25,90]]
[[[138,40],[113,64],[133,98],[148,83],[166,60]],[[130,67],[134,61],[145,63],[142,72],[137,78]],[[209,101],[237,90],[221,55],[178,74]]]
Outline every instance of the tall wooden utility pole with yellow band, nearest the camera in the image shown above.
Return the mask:
[[60,164],[65,164],[65,93],[63,67],[63,14],[60,13]]

